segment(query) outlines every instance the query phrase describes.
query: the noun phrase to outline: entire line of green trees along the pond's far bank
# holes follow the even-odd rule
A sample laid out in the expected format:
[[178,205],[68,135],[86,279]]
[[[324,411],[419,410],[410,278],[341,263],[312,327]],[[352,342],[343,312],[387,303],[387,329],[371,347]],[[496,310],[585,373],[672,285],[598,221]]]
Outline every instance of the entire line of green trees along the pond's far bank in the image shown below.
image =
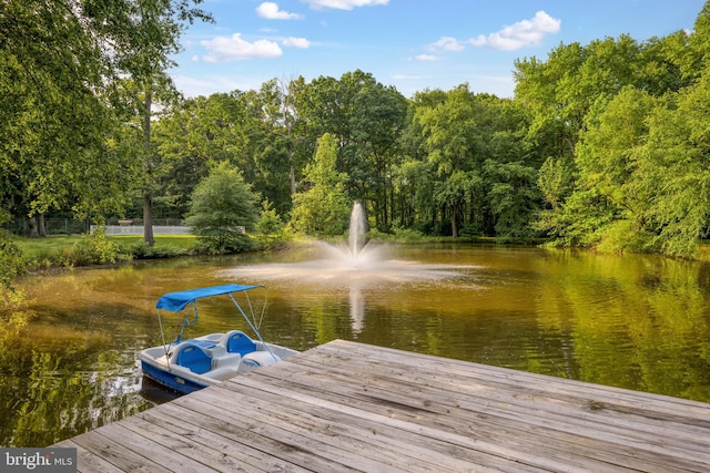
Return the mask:
[[469,84],[407,99],[359,70],[182,99],[165,70],[186,22],[209,20],[193,3],[6,2],[0,219],[204,223],[193,204],[211,207],[201,183],[217,173],[242,183],[247,228],[266,212],[339,234],[358,200],[381,233],[681,257],[708,234],[709,4],[692,32],[519,59],[513,99]]

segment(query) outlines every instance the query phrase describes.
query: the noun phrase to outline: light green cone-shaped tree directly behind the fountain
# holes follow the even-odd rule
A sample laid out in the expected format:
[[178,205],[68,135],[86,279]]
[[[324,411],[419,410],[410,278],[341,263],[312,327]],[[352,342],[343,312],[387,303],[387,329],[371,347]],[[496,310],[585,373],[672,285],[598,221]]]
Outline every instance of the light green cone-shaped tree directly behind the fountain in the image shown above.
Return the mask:
[[347,228],[351,200],[345,192],[346,175],[335,168],[337,141],[326,133],[318,140],[305,178],[311,187],[295,195],[291,225],[308,235],[342,235]]

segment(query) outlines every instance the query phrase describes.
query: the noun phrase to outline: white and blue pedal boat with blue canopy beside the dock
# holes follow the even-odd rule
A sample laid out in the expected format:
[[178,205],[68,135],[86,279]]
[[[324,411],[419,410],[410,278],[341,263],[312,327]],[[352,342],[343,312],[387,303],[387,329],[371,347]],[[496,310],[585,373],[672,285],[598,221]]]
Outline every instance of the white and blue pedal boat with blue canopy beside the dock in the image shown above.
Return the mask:
[[[297,351],[273,343],[266,343],[258,331],[263,311],[257,323],[247,291],[263,289],[264,286],[223,285],[183,290],[163,295],[155,308],[161,326],[163,345],[146,348],[138,356],[143,376],[180,393],[189,393],[213,384],[220,384],[237,374],[288,358]],[[235,294],[244,294],[246,302],[240,304]],[[241,330],[225,333],[210,333],[189,340],[182,336],[186,327],[197,322],[197,299],[229,297],[239,313],[246,320],[256,338],[252,339]],[[264,300],[264,308],[266,301]],[[244,310],[245,306],[250,313]],[[183,312],[182,326],[173,342],[165,342],[161,310]]]

